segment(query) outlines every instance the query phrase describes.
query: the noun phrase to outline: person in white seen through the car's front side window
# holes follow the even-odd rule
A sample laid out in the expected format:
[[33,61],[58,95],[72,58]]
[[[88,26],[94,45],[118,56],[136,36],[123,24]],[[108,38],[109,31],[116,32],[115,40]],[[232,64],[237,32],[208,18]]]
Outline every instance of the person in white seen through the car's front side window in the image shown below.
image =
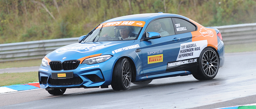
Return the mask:
[[152,26],[153,31],[160,33],[161,36],[168,36],[169,35],[168,32],[166,32],[162,29],[161,23],[159,21],[152,22],[151,26]]

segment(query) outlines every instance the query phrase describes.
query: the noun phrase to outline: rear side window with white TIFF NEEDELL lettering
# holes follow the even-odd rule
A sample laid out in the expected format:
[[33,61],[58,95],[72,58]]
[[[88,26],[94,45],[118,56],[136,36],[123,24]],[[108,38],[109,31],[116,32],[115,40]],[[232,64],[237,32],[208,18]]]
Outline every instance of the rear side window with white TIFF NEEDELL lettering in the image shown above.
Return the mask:
[[181,18],[172,18],[176,34],[196,31],[196,26]]

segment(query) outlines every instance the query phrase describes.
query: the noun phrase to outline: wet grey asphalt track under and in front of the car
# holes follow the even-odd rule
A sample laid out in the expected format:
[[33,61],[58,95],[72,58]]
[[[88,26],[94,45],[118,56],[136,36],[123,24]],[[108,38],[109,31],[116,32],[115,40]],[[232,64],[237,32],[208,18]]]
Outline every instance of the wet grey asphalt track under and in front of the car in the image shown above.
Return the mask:
[[[256,51],[225,54],[225,64],[213,80],[192,75],[131,85],[127,91],[109,88],[67,89],[52,96],[45,89],[0,94],[0,109],[213,109],[256,103]],[[195,108],[196,107],[196,108]]]

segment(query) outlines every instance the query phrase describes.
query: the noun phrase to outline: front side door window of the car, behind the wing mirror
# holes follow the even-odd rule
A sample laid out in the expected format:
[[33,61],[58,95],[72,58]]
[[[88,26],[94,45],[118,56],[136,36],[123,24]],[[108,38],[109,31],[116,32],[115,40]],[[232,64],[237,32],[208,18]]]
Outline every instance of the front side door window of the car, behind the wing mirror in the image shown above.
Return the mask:
[[175,34],[171,18],[161,18],[151,22],[146,28],[146,32],[158,32],[161,37]]

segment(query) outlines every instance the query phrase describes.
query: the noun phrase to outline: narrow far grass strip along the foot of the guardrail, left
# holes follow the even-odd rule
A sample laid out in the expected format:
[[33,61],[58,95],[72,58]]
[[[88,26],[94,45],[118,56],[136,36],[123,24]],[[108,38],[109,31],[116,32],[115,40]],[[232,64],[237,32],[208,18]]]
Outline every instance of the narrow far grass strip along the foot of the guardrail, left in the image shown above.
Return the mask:
[[42,62],[42,59],[0,62],[0,69],[11,68],[11,67],[40,66],[41,62]]

